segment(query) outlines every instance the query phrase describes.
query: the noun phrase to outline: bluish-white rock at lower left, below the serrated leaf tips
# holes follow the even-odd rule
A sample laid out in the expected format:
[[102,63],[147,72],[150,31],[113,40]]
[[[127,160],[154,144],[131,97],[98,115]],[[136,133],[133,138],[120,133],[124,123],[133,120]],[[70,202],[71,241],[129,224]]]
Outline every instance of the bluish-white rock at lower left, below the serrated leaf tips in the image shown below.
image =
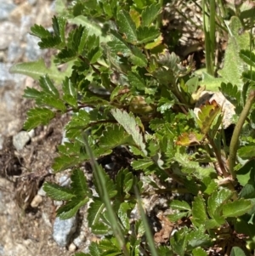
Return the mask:
[[71,236],[77,230],[77,217],[71,219],[59,219],[54,221],[53,238],[59,247],[65,247],[70,242]]

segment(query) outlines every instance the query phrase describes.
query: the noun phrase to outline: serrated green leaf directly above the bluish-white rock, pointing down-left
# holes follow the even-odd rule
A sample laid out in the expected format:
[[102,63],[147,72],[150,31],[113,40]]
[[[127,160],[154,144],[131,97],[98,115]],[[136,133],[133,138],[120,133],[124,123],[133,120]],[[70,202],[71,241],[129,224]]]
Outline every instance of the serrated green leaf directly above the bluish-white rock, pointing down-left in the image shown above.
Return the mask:
[[88,201],[89,198],[84,198],[82,200],[81,198],[73,197],[71,198],[71,201],[68,201],[57,210],[57,214],[60,219],[70,219],[77,213],[79,208],[85,205]]

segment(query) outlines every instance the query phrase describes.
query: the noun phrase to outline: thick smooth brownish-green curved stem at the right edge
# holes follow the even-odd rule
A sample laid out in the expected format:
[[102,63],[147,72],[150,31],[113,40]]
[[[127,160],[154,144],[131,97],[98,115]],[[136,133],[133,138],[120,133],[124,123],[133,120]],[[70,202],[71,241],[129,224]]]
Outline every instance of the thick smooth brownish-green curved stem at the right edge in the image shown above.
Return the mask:
[[228,163],[229,163],[229,172],[232,175],[232,179],[235,179],[235,160],[236,160],[236,152],[238,149],[238,141],[239,141],[239,136],[241,134],[241,128],[246,121],[246,117],[249,114],[249,111],[252,107],[253,100],[255,99],[255,90],[252,90],[249,94],[249,97],[246,100],[246,105],[244,106],[243,110],[241,111],[241,116],[239,117],[235,129],[230,141],[229,145],[229,158],[228,158]]

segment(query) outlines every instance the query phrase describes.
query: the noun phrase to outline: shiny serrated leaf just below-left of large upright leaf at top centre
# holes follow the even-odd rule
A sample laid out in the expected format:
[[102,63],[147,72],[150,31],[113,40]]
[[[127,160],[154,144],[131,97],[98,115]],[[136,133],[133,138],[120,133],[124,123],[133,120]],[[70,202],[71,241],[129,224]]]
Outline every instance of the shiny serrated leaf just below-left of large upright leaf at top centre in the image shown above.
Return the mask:
[[116,31],[111,31],[111,42],[108,42],[107,45],[111,48],[111,52],[114,54],[121,54],[123,56],[129,56],[132,54],[127,43]]

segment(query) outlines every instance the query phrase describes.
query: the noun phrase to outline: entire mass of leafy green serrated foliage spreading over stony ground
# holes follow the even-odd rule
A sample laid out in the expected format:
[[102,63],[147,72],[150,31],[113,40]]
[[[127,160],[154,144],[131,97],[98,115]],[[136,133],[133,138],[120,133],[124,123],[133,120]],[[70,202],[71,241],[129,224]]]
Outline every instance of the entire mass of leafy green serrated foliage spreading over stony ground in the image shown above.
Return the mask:
[[[31,28],[41,48],[56,48],[58,54],[49,70],[38,62],[48,73],[39,79],[41,90],[26,88],[24,96],[37,106],[28,111],[24,128],[72,113],[65,126],[69,141],[59,145],[53,165],[55,172],[72,169],[71,187],[46,183],[43,189],[54,200],[65,201],[57,211],[63,219],[93,200],[88,224],[105,239],[93,242],[86,255],[207,255],[207,248],[216,245],[225,253],[244,255],[241,248],[255,246],[255,54],[249,33],[239,34],[241,21],[233,16],[221,77],[207,75],[199,81],[192,58],[182,65],[163,43],[161,10],[162,3],[152,0],[77,1],[53,18],[53,33],[42,26]],[[79,24],[66,34],[68,20]],[[63,63],[71,68],[59,74],[54,64]],[[12,71],[22,69],[37,78],[37,68],[20,64]],[[206,101],[195,114],[203,83],[219,88],[235,105],[229,144],[216,101]],[[111,179],[96,160],[121,150],[128,161]],[[99,196],[92,194],[82,172],[86,161],[94,169]],[[151,187],[149,194],[141,172]],[[169,219],[186,220],[186,225],[171,236],[170,245],[155,247],[140,198],[176,191],[189,193],[192,200],[170,202],[174,211]],[[137,203],[142,220],[131,225],[130,212]],[[244,234],[246,242],[238,234]]]

